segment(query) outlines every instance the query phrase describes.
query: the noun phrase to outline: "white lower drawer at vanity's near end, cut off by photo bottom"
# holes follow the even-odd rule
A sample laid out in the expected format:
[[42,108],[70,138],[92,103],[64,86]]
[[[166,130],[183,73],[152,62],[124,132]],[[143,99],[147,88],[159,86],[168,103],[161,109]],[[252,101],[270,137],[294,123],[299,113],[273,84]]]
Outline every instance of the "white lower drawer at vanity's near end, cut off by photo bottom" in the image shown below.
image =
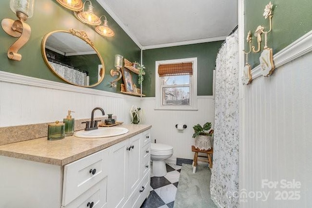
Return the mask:
[[[105,208],[107,207],[107,177],[82,193],[65,208]],[[89,206],[88,206],[89,205]]]

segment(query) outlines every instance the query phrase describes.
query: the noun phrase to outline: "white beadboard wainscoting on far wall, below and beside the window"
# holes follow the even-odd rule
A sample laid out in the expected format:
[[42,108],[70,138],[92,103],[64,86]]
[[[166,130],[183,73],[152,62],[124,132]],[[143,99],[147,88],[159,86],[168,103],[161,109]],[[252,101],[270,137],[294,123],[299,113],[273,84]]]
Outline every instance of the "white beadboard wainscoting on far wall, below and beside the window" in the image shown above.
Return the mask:
[[[215,98],[214,96],[197,96],[198,111],[161,111],[154,110],[155,97],[143,98],[141,108],[144,109],[144,123],[151,124],[152,142],[164,143],[173,146],[174,154],[168,161],[176,163],[176,158],[193,159],[191,146],[194,143],[192,135],[193,126],[199,123],[214,122]],[[187,129],[178,132],[176,124],[186,124]]]

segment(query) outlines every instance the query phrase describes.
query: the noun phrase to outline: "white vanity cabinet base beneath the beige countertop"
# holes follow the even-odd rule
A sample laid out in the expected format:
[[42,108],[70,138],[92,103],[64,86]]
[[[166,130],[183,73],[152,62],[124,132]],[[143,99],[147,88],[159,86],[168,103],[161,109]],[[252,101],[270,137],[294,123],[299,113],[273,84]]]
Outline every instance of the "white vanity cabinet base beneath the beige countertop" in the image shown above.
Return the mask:
[[149,134],[65,166],[0,156],[0,208],[138,208],[150,192]]

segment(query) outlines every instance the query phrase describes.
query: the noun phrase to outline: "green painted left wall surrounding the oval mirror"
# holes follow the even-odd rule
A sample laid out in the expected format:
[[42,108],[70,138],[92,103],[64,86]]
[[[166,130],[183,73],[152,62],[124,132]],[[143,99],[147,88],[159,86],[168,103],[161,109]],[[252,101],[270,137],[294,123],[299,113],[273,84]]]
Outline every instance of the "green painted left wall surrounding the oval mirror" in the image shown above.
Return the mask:
[[[73,13],[63,8],[56,0],[36,0],[34,16],[27,19],[26,23],[31,26],[31,37],[29,41],[19,50],[22,55],[21,61],[13,61],[7,58],[7,50],[17,38],[7,35],[0,29],[0,71],[32,76],[57,82],[64,82],[45,65],[41,56],[41,40],[45,34],[55,30],[66,30],[70,28],[84,30],[94,42],[105,65],[104,80],[95,89],[109,92],[120,92],[120,84],[117,88],[110,88],[109,83],[117,77],[109,74],[114,68],[115,54],[120,54],[130,61],[139,60],[140,49],[135,42],[119,27],[119,25],[100,7],[97,1],[92,1],[95,13],[98,16],[105,15],[109,26],[114,30],[115,36],[104,38],[98,35],[93,26],[83,24],[76,19]],[[17,19],[10,10],[9,0],[0,1],[0,19]],[[137,77],[137,76],[134,76]]]

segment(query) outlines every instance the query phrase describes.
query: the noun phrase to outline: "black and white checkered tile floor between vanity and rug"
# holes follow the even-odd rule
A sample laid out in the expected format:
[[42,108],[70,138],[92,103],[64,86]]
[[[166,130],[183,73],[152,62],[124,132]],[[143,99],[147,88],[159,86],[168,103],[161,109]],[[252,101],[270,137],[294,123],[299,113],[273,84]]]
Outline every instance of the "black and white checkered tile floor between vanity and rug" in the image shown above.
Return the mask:
[[181,167],[175,164],[166,164],[167,174],[163,177],[155,177],[153,172],[151,173],[151,192],[141,208],[174,207]]

